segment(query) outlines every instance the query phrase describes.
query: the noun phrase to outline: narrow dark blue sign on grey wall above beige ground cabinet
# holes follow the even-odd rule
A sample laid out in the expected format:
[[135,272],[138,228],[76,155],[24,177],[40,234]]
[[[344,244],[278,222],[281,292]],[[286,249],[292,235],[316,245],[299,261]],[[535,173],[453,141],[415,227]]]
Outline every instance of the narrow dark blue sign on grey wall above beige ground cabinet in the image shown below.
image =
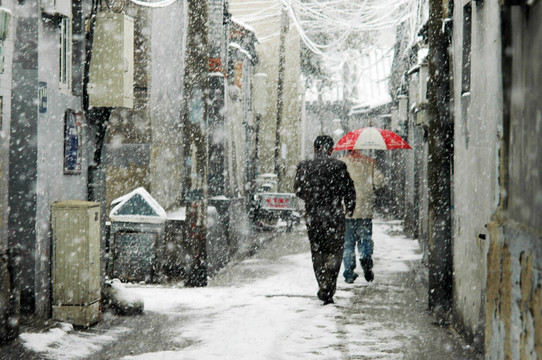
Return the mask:
[[64,173],[80,174],[83,160],[82,114],[68,109],[64,119]]

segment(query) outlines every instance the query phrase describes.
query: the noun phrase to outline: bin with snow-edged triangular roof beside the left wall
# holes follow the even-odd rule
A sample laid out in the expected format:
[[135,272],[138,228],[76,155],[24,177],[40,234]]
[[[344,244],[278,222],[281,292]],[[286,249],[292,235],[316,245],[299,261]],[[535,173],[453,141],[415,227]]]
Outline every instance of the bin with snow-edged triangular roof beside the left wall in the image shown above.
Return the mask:
[[111,205],[109,276],[130,282],[157,282],[165,210],[142,187],[113,200]]

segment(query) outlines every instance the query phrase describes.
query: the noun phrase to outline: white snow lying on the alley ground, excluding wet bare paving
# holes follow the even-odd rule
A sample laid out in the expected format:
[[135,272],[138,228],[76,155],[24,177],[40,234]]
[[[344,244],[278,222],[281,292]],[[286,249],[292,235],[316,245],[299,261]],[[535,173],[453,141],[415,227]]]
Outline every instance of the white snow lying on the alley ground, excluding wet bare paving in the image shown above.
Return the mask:
[[[374,321],[349,323],[344,315],[360,290],[391,287],[391,279],[397,273],[409,270],[409,261],[420,260],[418,242],[390,232],[392,227],[400,228],[390,222],[374,225],[375,282],[368,284],[360,276],[354,284],[346,284],[339,276],[334,305],[322,306],[316,298],[317,285],[308,244],[298,251],[284,251],[287,254],[284,256],[279,248],[279,253],[267,256],[258,253],[235,266],[232,264],[205,288],[130,285],[127,289],[145,301],[142,316],[161,314],[183,320],[172,322],[176,325],[162,334],[174,339],[177,346],[122,359],[329,360],[350,359],[348,354],[403,358],[394,349],[405,345],[402,342],[408,341],[411,336],[408,332],[413,329],[397,326],[386,330],[387,325],[379,326]],[[290,234],[294,235],[279,236],[296,236]],[[300,244],[307,243],[304,234],[298,232]],[[285,243],[293,244],[292,241],[286,239]],[[372,305],[384,311],[394,306],[385,301]],[[133,330],[118,326],[98,334],[76,331],[71,325],[62,324],[46,333],[22,333],[20,338],[28,349],[45,358],[79,359],[91,357],[130,331]],[[375,331],[379,332],[378,337]],[[381,357],[382,346],[375,342],[394,349],[387,357]]]

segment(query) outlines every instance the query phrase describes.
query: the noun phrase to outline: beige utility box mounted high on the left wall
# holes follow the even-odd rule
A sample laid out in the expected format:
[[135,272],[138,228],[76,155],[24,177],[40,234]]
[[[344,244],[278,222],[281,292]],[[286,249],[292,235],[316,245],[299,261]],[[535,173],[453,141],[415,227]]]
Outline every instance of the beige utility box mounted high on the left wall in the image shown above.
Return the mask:
[[96,15],[90,59],[89,105],[133,108],[134,19],[124,14]]

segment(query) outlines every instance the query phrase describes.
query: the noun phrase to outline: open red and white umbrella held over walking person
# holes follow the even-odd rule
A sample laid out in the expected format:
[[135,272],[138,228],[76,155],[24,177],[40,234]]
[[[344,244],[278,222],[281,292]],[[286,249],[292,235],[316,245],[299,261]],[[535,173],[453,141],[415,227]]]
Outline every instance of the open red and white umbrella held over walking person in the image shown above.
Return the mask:
[[399,135],[390,130],[367,127],[348,132],[337,141],[333,150],[411,149]]

